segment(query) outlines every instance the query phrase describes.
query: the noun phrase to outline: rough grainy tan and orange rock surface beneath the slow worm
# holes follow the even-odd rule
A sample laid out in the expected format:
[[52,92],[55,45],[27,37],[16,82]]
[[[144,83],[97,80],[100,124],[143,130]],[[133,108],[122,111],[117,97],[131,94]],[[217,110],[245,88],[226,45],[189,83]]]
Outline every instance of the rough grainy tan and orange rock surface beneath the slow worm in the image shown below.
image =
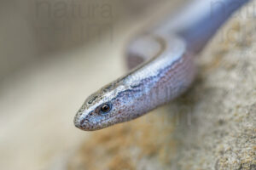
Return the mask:
[[67,169],[256,169],[256,20],[249,3],[198,57],[188,93],[90,133]]

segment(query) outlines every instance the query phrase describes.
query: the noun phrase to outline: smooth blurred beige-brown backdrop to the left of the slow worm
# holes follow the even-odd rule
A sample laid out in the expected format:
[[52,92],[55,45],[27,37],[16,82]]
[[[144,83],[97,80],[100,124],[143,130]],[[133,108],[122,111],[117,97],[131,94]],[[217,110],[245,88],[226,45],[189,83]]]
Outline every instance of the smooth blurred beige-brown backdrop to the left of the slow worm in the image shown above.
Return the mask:
[[[84,99],[125,73],[137,31],[182,1],[2,0],[0,168],[45,169],[88,138]],[[61,158],[60,158],[61,157]]]

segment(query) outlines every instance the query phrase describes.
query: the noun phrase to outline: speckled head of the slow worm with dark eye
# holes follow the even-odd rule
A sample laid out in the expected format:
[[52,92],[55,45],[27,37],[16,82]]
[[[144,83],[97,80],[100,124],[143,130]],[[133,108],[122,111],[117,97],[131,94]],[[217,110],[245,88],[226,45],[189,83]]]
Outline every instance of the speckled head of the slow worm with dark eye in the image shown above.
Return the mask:
[[[74,124],[82,130],[93,131],[127,120],[131,96],[120,93],[123,86],[102,88],[84,101],[74,117]],[[126,102],[124,102],[126,100]]]

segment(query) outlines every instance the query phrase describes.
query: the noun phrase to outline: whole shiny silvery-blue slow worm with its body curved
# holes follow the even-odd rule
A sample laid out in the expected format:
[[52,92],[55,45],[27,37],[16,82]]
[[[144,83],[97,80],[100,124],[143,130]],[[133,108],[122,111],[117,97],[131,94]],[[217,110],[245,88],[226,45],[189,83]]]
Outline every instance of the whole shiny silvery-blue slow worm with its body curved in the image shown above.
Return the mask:
[[249,0],[195,0],[127,47],[133,68],[85,100],[74,118],[83,130],[127,122],[182,94],[195,77],[200,53],[230,15]]

